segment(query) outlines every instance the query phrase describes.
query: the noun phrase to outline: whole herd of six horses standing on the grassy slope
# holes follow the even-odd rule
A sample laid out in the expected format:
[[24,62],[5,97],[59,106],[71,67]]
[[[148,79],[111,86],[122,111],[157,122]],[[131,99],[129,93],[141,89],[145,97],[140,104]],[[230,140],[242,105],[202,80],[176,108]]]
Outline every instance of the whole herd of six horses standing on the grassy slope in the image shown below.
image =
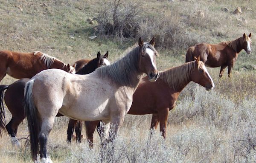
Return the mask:
[[[51,163],[47,152],[49,132],[56,116],[70,118],[67,141],[74,130],[81,142],[81,124],[85,121],[87,140],[93,147],[93,133],[99,122],[105,127],[102,140],[113,141],[125,114],[152,114],[151,129],[160,124],[166,138],[169,111],[186,85],[193,81],[211,90],[215,87],[207,67],[228,66],[228,76],[244,49],[251,52],[251,34],[219,44],[201,43],[188,48],[186,63],[158,72],[155,39],[133,45],[122,58],[110,64],[108,52],[99,52],[92,60],[81,59],[73,66],[41,52],[0,51],[0,81],[8,74],[20,79],[0,85],[0,134],[6,130],[15,140],[18,125],[27,117],[32,158]],[[147,76],[143,77],[144,73]],[[6,90],[6,91],[4,91]],[[143,103],[141,102],[143,101]],[[6,125],[4,102],[12,113]],[[99,130],[98,130],[99,131]],[[111,132],[109,132],[111,131]],[[14,141],[17,143],[17,141]]]

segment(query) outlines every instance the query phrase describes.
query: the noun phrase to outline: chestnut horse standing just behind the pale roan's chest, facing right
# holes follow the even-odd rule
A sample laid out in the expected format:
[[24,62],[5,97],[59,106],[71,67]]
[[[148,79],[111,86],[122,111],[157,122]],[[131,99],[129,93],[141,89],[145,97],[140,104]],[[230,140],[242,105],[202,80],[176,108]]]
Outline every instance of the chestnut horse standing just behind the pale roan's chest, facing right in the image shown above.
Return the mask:
[[[211,90],[214,87],[212,78],[204,66],[204,62],[200,61],[200,57],[193,62],[160,72],[157,82],[149,82],[143,78],[133,95],[133,103],[128,114],[153,114],[151,129],[156,129],[160,122],[160,131],[166,138],[169,110],[175,107],[180,92],[191,81],[200,84],[206,90]],[[97,125],[99,126],[99,121],[85,122],[90,147],[93,147],[93,133]]]

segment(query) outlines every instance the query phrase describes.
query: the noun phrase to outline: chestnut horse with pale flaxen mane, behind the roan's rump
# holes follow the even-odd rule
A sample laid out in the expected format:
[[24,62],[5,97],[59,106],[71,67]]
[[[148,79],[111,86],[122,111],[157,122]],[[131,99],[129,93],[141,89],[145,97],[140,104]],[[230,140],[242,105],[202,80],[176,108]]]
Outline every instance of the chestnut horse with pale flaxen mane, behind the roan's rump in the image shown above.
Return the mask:
[[35,74],[49,68],[58,68],[68,73],[76,73],[74,67],[39,51],[20,53],[0,51],[0,82],[8,74],[16,79],[32,78]]

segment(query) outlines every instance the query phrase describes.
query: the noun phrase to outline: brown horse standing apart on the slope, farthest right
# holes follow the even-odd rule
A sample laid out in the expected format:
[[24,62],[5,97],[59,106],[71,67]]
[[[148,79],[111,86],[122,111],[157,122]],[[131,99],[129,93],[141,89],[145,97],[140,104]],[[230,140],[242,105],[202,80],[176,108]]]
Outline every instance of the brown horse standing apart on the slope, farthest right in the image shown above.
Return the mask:
[[219,77],[221,78],[224,69],[228,66],[228,77],[231,77],[231,70],[235,65],[238,53],[244,49],[247,54],[251,52],[251,40],[249,36],[244,34],[242,37],[233,41],[225,41],[219,44],[207,44],[201,43],[190,47],[186,53],[186,62],[190,62],[195,57],[200,56],[201,61],[205,63],[207,67],[220,67],[221,71]]

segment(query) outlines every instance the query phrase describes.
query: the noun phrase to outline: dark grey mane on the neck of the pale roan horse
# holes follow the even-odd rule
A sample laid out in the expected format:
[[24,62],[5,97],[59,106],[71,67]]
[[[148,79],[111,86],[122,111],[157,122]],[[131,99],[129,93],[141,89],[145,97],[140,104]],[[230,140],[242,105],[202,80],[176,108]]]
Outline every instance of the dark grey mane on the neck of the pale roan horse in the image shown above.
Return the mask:
[[[157,53],[154,46],[148,42],[143,44],[142,51],[145,51],[146,48],[150,48],[152,51]],[[117,84],[131,86],[133,82],[131,76],[138,72],[140,47],[135,44],[126,51],[129,52],[122,59],[117,60],[112,65],[97,68],[96,73],[99,73],[99,76],[108,76]],[[138,79],[139,78],[140,77],[138,76]]]

